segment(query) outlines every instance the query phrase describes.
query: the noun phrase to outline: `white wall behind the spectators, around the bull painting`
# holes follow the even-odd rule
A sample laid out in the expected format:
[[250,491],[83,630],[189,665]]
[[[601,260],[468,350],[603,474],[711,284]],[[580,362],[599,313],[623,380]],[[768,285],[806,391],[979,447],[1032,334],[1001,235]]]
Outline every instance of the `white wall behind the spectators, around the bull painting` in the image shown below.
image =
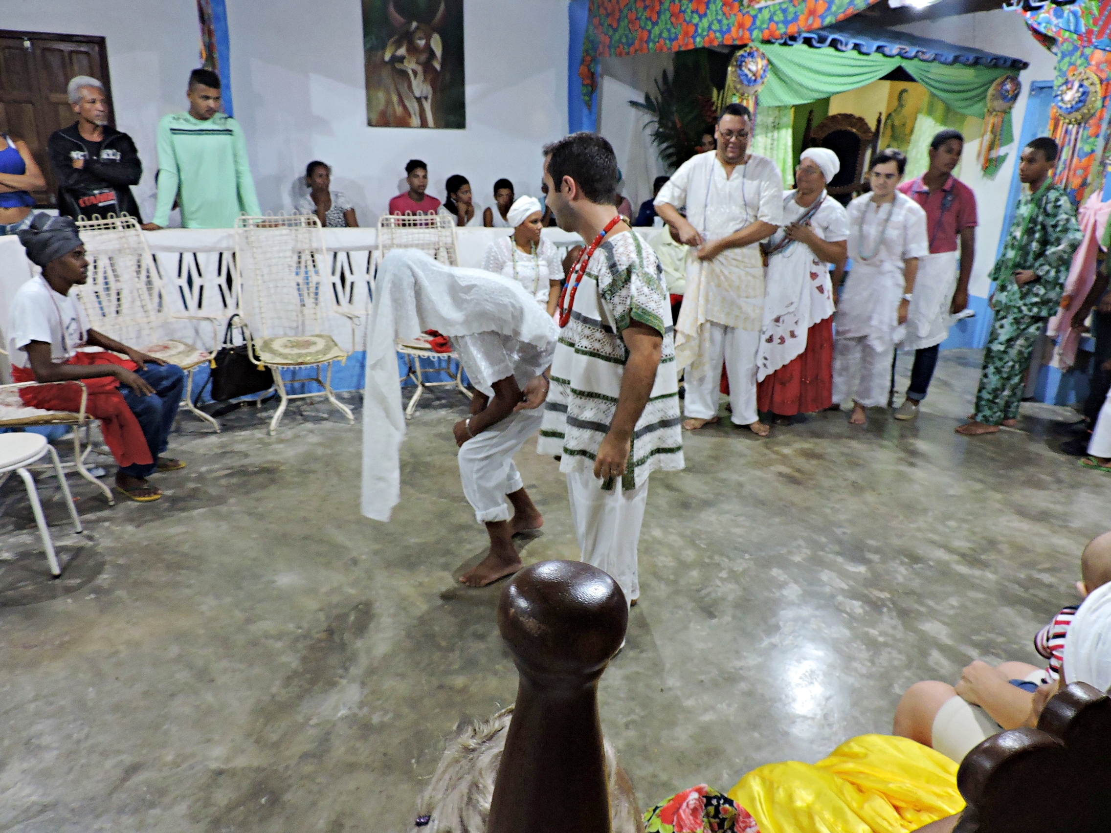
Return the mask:
[[[289,210],[304,165],[332,165],[332,187],[372,224],[411,158],[443,198],[452,173],[491,205],[494,180],[540,195],[540,148],[567,132],[565,0],[466,0],[467,129],[367,127],[359,0],[227,0],[236,118],[247,132],[263,210]],[[0,27],[108,40],[117,126],[146,167],[136,189],[153,212],[154,130],[184,110],[200,38],[194,0],[0,0]]]

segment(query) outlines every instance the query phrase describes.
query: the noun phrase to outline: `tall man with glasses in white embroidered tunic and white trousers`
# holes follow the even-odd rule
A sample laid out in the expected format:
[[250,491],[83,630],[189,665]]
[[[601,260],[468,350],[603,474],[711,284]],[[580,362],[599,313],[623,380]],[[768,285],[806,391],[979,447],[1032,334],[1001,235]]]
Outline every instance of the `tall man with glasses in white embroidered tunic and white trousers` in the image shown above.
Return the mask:
[[[775,163],[749,153],[752,116],[728,104],[718,119],[717,150],[683,162],[655,198],[655,211],[692,248],[687,291],[675,322],[677,364],[687,369],[683,428],[718,421],[721,364],[729,371],[735,425],[760,436],[757,351],[763,323],[760,241],[783,222],[783,177]],[[687,217],[679,209],[687,207]]]

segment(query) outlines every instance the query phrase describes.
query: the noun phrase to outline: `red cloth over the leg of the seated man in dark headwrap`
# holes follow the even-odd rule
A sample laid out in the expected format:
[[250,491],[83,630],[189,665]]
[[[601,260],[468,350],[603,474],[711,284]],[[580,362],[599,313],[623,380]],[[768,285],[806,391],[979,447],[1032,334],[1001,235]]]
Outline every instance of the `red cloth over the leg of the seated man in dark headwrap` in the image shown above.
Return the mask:
[[[78,353],[67,364],[120,364],[128,370],[138,365],[130,359],[124,359],[107,350],[96,353]],[[11,369],[12,379],[17,382],[33,382],[34,372],[30,368]],[[89,400],[84,411],[90,416],[100,420],[100,433],[104,435],[108,445],[122,465],[146,465],[154,462],[147,448],[147,438],[142,433],[139,420],[128,408],[120,383],[112,377],[82,379],[89,389]],[[42,408],[47,411],[78,411],[81,408],[81,388],[76,384],[51,384],[44,388],[23,388],[19,392],[31,408]]]

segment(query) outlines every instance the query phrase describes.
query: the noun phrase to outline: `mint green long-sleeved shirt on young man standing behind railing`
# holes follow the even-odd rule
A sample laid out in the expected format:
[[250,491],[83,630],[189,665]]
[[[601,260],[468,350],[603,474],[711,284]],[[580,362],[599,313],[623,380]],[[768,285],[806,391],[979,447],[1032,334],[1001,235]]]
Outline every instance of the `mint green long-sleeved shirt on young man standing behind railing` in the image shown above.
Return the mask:
[[238,121],[223,113],[208,121],[187,112],[162,118],[156,224],[169,223],[174,197],[187,229],[230,229],[241,213],[262,213]]

